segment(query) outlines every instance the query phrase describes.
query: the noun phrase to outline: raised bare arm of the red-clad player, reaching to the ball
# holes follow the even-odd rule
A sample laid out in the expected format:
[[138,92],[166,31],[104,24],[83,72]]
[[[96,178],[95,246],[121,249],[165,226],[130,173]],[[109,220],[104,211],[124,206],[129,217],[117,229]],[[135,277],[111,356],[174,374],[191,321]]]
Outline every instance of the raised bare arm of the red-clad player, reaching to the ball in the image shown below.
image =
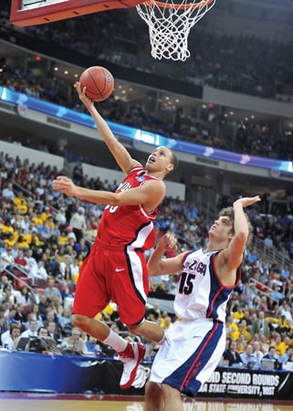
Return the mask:
[[129,174],[133,167],[135,167],[136,165],[141,165],[141,163],[131,157],[131,154],[111,132],[109,125],[97,111],[94,102],[89,100],[89,98],[86,96],[86,88],[81,90],[79,81],[77,81],[74,86],[78,91],[79,100],[81,100],[87,107],[89,114],[95,121],[99,134],[101,135],[103,141],[107,144],[110,153],[112,153],[112,155],[114,156],[116,162],[120,166],[120,169],[124,174]]

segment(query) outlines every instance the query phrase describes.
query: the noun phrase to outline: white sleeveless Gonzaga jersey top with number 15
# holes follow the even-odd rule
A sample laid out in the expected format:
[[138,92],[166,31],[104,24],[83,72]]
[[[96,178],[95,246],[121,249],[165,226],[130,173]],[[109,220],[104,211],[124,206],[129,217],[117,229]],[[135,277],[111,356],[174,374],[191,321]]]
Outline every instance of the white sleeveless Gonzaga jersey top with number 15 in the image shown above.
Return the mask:
[[174,300],[174,310],[183,321],[213,319],[225,322],[226,304],[240,281],[237,269],[235,285],[226,287],[215,271],[215,256],[220,250],[205,253],[189,251],[183,257],[183,269]]

